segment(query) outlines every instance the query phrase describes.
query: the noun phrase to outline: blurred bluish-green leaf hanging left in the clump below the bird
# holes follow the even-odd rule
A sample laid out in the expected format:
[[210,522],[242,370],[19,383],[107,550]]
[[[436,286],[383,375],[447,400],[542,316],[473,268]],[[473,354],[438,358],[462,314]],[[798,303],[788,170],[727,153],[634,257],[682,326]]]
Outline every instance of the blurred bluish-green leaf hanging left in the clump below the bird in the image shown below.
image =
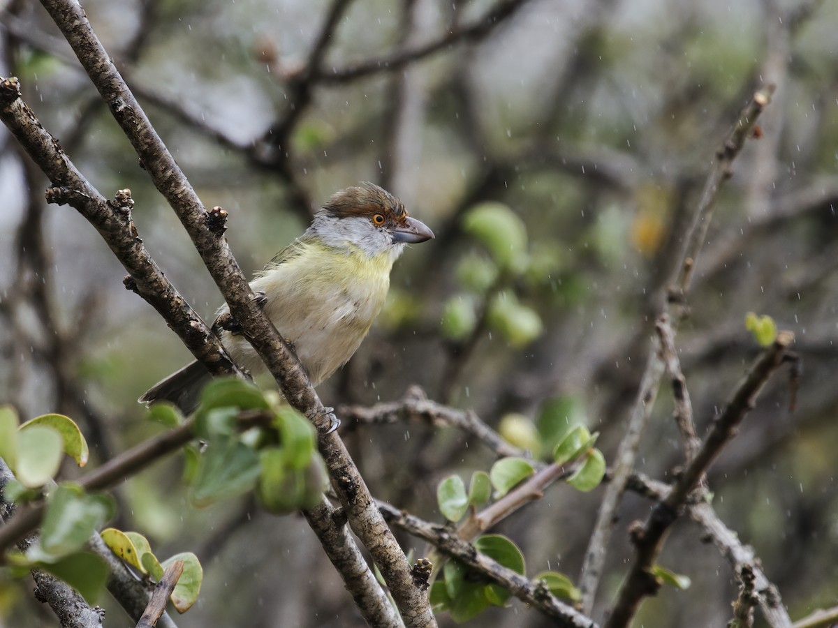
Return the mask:
[[234,438],[216,438],[201,456],[192,501],[204,507],[248,492],[256,486],[260,471],[259,456],[250,447]]

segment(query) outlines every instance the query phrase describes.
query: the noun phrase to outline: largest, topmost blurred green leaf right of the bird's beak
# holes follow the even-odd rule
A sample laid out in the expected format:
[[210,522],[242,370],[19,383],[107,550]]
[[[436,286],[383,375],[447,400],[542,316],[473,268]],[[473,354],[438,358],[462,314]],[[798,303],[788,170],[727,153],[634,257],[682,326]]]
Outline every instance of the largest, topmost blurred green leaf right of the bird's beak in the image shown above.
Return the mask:
[[525,265],[527,235],[524,221],[504,203],[479,203],[463,216],[463,229],[482,243],[501,268]]

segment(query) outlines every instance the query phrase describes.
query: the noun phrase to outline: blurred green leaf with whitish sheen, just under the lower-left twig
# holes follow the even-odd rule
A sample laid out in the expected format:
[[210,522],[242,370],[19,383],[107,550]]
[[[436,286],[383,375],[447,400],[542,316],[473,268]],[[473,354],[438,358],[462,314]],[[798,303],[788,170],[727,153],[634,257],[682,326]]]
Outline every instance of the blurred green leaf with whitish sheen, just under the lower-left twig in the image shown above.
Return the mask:
[[86,494],[74,484],[59,484],[47,502],[40,547],[55,557],[74,552],[84,547],[96,528],[113,517],[114,512],[112,497]]

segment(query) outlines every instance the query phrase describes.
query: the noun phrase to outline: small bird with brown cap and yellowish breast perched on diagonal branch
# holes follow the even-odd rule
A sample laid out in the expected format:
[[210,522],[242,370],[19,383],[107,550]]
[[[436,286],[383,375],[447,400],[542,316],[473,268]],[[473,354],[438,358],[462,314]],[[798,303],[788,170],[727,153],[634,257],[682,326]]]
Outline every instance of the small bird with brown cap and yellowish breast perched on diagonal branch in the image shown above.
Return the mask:
[[[370,331],[390,287],[390,270],[406,244],[432,239],[396,197],[373,183],[329,198],[306,232],[251,281],[265,312],[297,352],[313,385],[343,366]],[[227,313],[227,306],[218,311]],[[236,364],[256,372],[261,359],[245,337],[221,332]],[[184,412],[198,404],[211,376],[193,362],[156,383],[141,403],[168,400]]]

